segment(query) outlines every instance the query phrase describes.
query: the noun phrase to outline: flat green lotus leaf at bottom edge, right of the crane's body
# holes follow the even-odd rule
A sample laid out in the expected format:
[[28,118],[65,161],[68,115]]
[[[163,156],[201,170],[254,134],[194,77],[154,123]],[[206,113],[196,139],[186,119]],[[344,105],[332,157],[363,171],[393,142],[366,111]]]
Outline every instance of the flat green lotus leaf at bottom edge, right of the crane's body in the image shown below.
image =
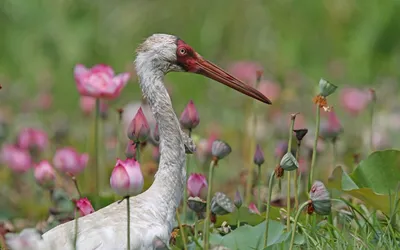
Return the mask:
[[[286,237],[281,237],[285,226],[280,222],[271,220],[268,230],[268,246],[281,243],[286,240]],[[210,242],[212,245],[223,245],[230,249],[262,249],[264,245],[265,222],[253,227],[244,225],[234,230],[233,232],[221,236],[212,234]]]

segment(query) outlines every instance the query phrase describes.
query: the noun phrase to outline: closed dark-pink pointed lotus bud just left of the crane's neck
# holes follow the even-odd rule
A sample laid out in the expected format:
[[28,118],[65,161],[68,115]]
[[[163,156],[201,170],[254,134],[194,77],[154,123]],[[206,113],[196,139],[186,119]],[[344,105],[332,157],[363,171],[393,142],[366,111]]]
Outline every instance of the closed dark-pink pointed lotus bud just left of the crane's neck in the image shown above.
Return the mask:
[[128,138],[137,142],[144,142],[147,140],[150,134],[150,127],[147,122],[146,116],[144,116],[142,107],[139,108],[135,117],[131,121],[128,127]]

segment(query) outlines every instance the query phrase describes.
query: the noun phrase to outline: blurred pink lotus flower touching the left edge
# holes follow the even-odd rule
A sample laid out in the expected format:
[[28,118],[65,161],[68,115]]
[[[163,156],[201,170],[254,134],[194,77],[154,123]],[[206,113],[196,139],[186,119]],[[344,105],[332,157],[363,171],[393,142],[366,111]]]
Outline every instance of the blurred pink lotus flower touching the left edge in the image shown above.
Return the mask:
[[18,173],[24,173],[32,166],[32,159],[29,152],[14,145],[3,146],[1,150],[1,161]]

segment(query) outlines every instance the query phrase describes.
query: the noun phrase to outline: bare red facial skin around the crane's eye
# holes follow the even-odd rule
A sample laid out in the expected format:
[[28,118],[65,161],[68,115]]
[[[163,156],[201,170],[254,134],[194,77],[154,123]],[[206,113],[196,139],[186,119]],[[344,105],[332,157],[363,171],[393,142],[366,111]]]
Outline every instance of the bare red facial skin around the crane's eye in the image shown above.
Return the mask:
[[196,60],[201,58],[200,55],[197,54],[192,47],[180,39],[177,41],[177,46],[176,59],[178,64],[186,71],[196,73],[199,70],[198,66],[196,65]]

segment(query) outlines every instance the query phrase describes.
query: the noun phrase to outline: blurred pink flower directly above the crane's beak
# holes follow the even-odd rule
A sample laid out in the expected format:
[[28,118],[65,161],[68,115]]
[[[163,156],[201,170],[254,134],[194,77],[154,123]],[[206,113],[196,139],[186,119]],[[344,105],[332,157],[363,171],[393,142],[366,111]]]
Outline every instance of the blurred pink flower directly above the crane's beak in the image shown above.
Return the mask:
[[[228,71],[250,86],[254,86],[257,80],[257,71],[263,70],[256,62],[239,61],[231,64]],[[268,96],[269,97],[269,96]]]

